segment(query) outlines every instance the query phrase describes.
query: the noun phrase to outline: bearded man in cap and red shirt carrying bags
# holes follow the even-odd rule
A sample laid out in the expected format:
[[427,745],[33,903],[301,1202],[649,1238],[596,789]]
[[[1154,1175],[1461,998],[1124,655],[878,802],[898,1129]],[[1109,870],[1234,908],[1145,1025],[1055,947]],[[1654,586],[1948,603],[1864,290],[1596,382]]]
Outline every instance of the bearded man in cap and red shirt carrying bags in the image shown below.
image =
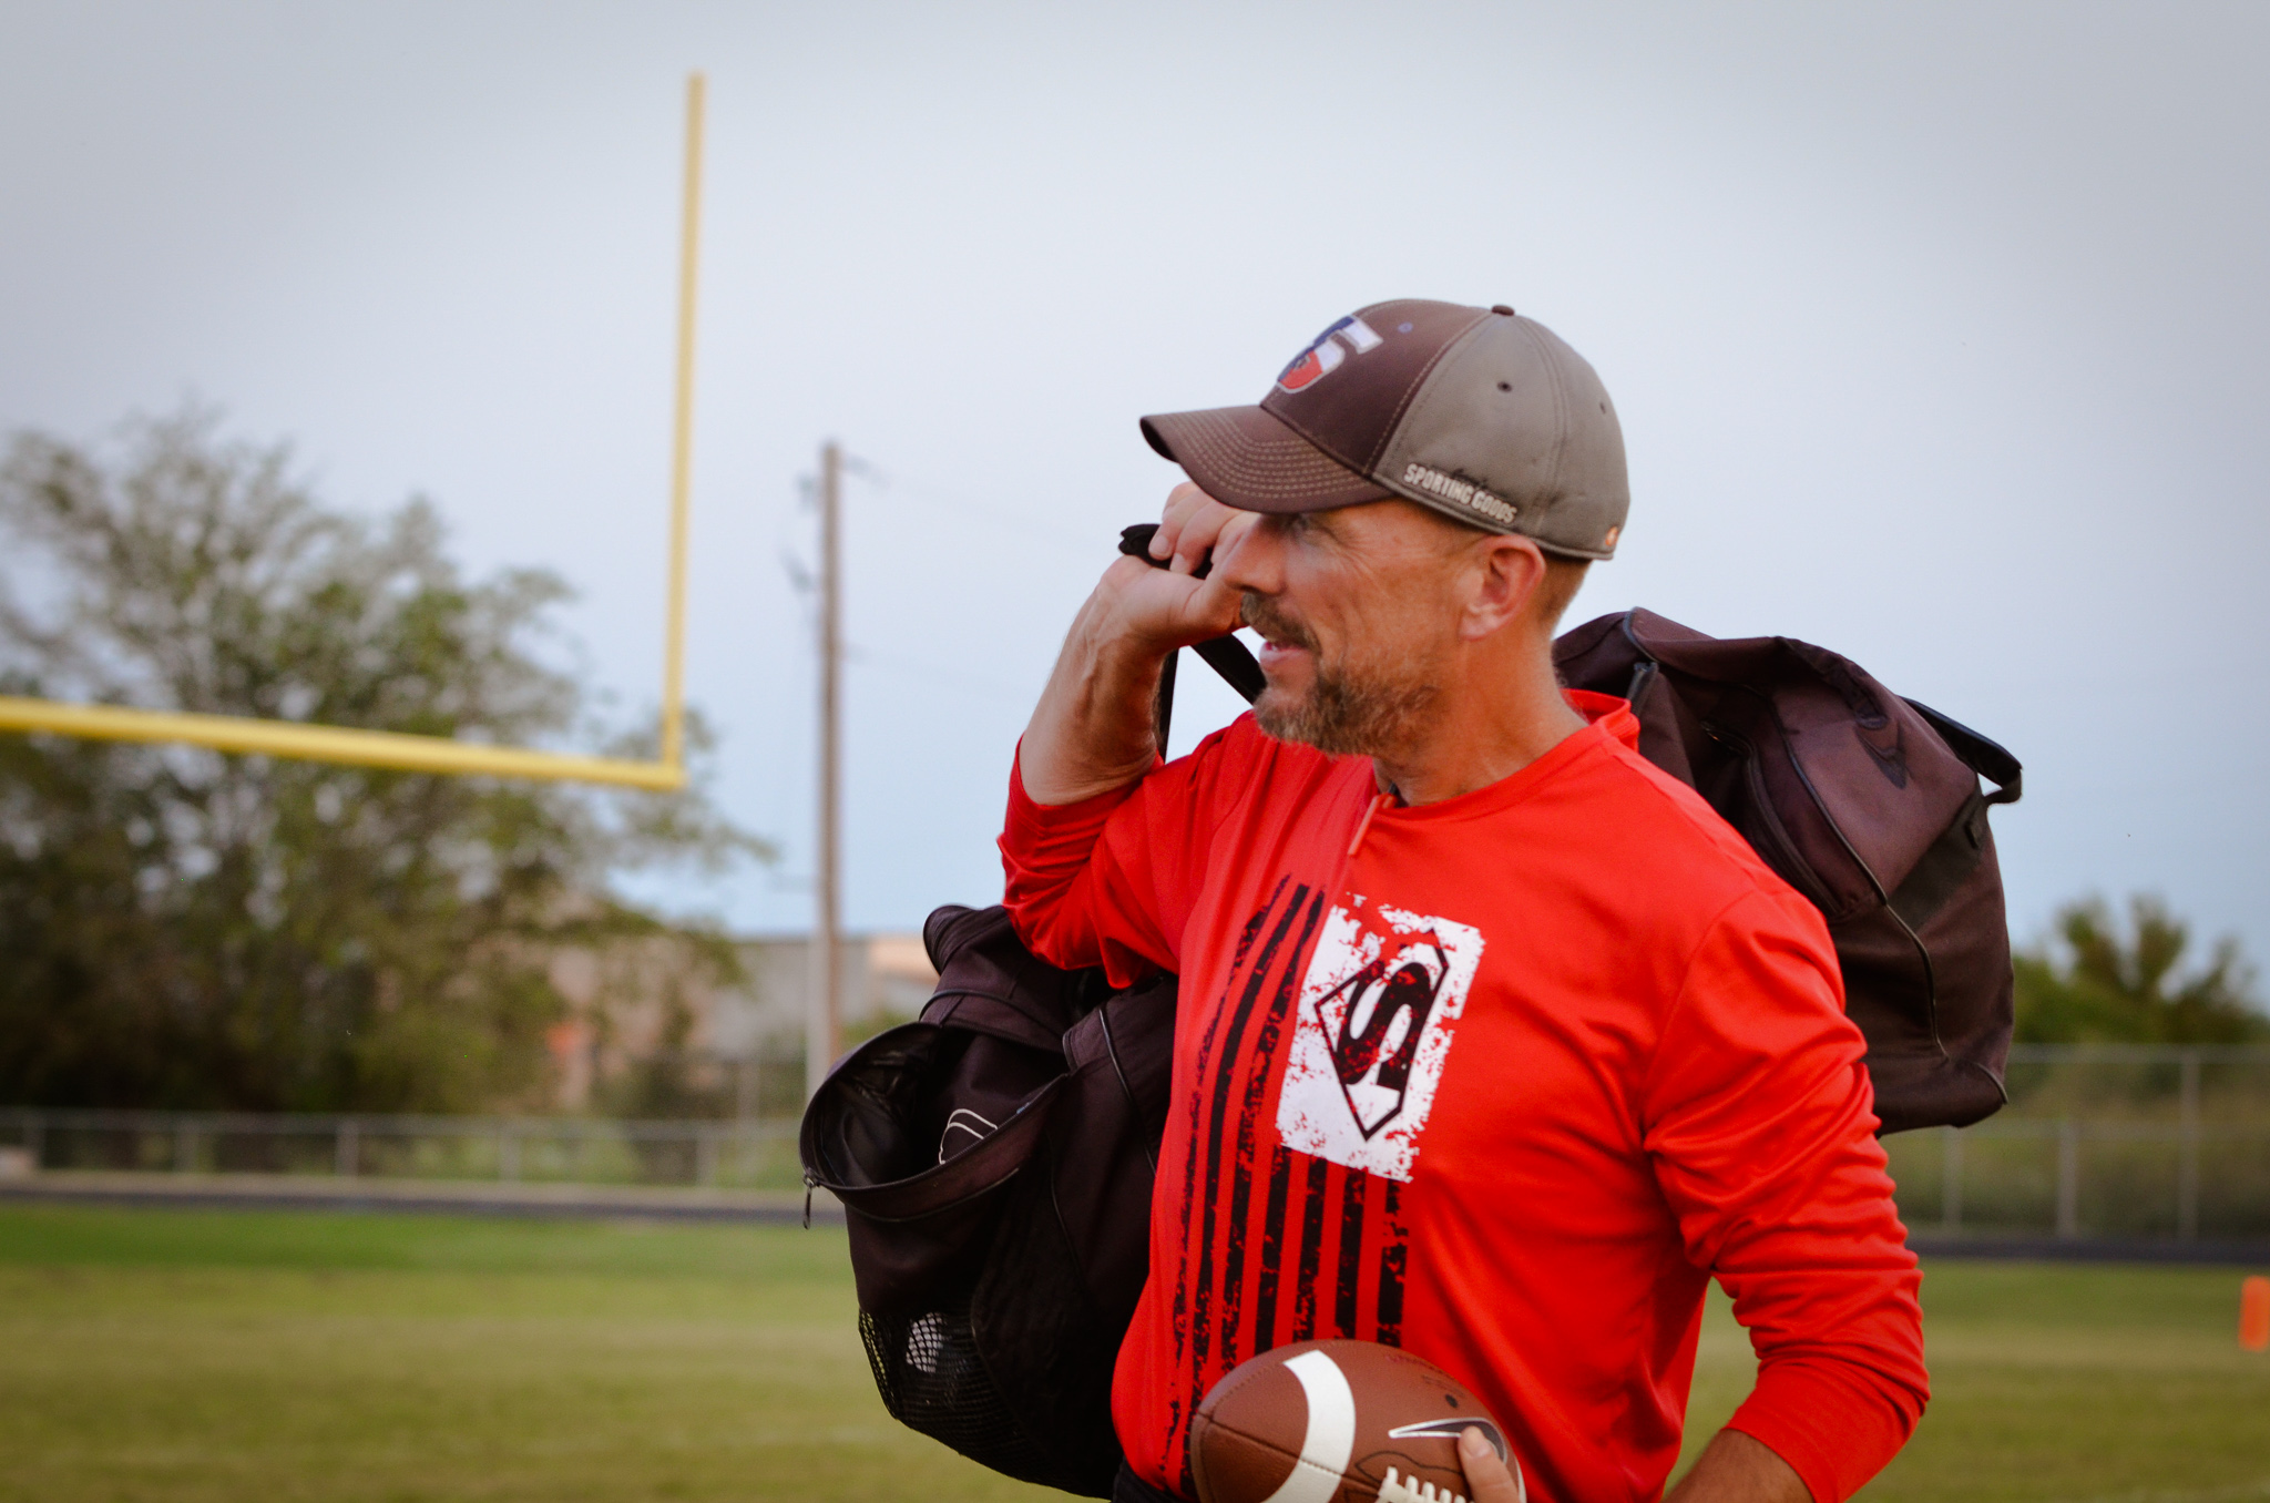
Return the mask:
[[[1121,1496],[1194,1496],[1237,1362],[1357,1337],[1471,1383],[1530,1498],[1657,1498],[1712,1276],[1759,1378],[1673,1496],[1855,1492],[1927,1399],[1916,1262],[1821,915],[1553,677],[1628,509],[1591,366],[1385,302],[1144,436],[1171,570],[1087,599],[1001,838],[1035,954],[1180,974]],[[1165,654],[1239,622],[1253,715],[1160,765]]]

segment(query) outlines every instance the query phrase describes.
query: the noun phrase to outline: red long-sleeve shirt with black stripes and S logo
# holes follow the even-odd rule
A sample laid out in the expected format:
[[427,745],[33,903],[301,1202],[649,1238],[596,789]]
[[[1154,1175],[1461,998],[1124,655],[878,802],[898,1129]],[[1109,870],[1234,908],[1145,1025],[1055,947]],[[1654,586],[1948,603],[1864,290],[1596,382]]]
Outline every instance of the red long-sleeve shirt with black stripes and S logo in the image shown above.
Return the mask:
[[1920,1276],[1821,915],[1623,702],[1571,704],[1584,731],[1419,808],[1251,717],[1085,804],[1010,779],[1019,935],[1183,981],[1112,1385],[1155,1487],[1194,1496],[1217,1378],[1339,1335],[1473,1385],[1530,1498],[1657,1498],[1712,1276],[1759,1355],[1732,1424],[1814,1498],[1920,1417]]

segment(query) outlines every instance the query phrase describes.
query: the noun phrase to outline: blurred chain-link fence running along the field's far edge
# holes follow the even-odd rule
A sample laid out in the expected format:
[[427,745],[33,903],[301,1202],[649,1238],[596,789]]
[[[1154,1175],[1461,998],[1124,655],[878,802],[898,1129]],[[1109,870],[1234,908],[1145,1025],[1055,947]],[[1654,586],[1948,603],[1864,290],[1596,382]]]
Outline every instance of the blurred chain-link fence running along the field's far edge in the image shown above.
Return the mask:
[[[1932,1237],[2270,1240],[2270,1049],[2011,1051],[1986,1122],[1886,1137]],[[0,1108],[41,1169],[794,1187],[792,1119]]]

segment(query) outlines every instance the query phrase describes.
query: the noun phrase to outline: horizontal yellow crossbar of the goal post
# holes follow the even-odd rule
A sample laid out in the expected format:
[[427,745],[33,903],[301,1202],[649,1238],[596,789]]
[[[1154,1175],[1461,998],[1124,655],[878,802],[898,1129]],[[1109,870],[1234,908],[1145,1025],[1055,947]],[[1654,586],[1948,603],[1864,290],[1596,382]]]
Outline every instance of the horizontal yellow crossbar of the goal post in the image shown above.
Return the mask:
[[216,752],[252,756],[291,756],[306,763],[347,763],[354,767],[400,767],[404,772],[463,772],[484,776],[572,779],[579,783],[622,783],[670,792],[686,786],[686,770],[670,763],[627,763],[611,756],[563,756],[558,752],[522,752],[518,747],[484,747],[447,736],[404,736],[400,731],[347,731],[311,727],[295,720],[252,720],[247,715],[179,715],[168,711],[129,711],[109,704],[59,704],[54,699],[16,699],[0,695],[0,731],[48,731],[89,740],[182,740]]

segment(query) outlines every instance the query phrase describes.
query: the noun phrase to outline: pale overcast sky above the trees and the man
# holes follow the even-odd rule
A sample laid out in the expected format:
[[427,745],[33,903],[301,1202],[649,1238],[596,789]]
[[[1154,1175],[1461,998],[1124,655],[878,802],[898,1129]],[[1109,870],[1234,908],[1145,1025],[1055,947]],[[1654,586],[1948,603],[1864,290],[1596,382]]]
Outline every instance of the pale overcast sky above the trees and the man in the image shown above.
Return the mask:
[[1176,479],[1135,418],[1446,297],[1616,397],[1573,620],[1809,638],[2004,740],[2020,940],[2152,890],[2270,958],[2265,64],[2259,5],[9,0],[0,429],[195,395],[334,504],[424,493],[649,708],[704,68],[688,672],[785,860],[640,892],[806,924],[822,438],[869,465],[847,910],[903,929],[999,895],[1031,697]]

